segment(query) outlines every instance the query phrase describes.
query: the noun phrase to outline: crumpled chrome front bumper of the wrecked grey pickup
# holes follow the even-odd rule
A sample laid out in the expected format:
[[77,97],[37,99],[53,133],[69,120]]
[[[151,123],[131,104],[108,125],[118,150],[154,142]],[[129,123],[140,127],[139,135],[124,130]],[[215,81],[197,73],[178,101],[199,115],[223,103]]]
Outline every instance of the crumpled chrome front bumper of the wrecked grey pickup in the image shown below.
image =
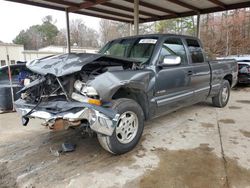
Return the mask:
[[[22,117],[42,119],[44,124],[54,124],[59,119],[68,122],[87,120],[93,131],[108,136],[113,134],[120,117],[119,114],[110,108],[80,102],[43,102],[35,107],[35,104],[19,99],[15,101],[15,107]],[[34,107],[35,109],[32,110]],[[31,110],[32,112],[29,113]]]

